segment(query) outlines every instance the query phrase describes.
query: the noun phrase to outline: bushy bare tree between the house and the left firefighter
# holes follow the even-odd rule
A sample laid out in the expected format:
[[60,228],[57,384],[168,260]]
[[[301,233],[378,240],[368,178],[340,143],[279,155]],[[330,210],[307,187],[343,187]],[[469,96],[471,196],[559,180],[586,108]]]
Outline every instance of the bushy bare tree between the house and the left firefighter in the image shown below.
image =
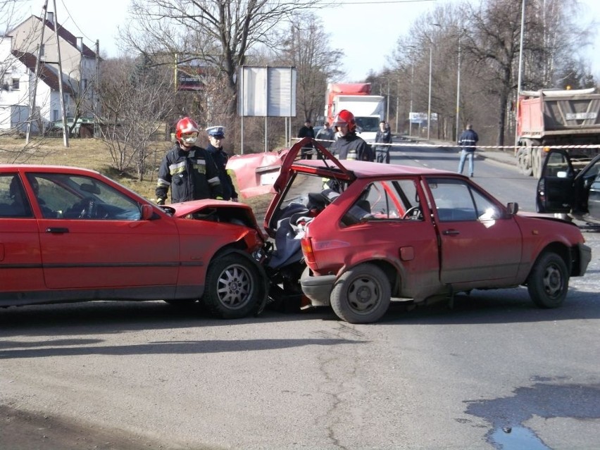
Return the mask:
[[135,168],[142,181],[151,156],[150,143],[173,111],[173,77],[142,61],[104,62],[101,77],[101,134],[115,168]]

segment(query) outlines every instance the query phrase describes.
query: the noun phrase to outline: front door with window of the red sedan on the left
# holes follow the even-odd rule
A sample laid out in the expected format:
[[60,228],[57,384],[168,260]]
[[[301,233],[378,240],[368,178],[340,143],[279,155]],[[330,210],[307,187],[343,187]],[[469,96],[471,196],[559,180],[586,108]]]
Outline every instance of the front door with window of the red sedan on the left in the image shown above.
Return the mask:
[[176,285],[180,258],[173,218],[142,220],[140,199],[100,179],[68,173],[30,176],[39,183],[46,208],[54,211],[39,218],[47,287]]

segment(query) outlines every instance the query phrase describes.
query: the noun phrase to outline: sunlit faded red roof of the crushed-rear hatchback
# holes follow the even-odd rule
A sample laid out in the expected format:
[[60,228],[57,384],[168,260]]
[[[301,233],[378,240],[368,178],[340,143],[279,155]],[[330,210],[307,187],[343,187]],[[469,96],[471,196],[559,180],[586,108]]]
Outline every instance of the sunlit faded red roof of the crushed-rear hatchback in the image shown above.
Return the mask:
[[[449,172],[448,170],[413,167],[410,165],[382,164],[354,160],[342,160],[340,162],[344,165],[344,168],[350,170],[358,178],[386,177],[396,175],[457,175],[456,173]],[[325,165],[325,163],[320,160],[301,159],[299,161],[294,161],[293,168],[296,170],[301,170],[301,166],[303,165],[315,168],[327,168],[328,166],[331,167],[331,165]],[[339,172],[336,167],[331,168],[332,172]]]

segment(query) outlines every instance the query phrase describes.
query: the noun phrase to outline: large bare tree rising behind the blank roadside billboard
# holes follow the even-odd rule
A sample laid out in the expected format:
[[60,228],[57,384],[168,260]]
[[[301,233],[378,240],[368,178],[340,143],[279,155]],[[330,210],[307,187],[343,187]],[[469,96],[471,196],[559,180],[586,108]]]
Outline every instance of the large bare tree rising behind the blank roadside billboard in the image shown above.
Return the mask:
[[132,0],[137,19],[125,30],[138,51],[168,52],[200,58],[227,80],[227,113],[237,107],[237,68],[252,46],[268,43],[268,35],[292,13],[318,0]]

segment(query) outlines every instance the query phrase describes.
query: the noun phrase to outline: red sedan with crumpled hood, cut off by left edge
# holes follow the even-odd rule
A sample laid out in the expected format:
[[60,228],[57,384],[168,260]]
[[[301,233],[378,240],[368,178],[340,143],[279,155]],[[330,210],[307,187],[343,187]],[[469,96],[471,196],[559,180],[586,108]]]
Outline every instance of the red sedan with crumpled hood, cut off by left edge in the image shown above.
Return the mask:
[[263,244],[244,204],[161,208],[92,170],[0,165],[0,306],[201,301],[239,318],[265,304]]

